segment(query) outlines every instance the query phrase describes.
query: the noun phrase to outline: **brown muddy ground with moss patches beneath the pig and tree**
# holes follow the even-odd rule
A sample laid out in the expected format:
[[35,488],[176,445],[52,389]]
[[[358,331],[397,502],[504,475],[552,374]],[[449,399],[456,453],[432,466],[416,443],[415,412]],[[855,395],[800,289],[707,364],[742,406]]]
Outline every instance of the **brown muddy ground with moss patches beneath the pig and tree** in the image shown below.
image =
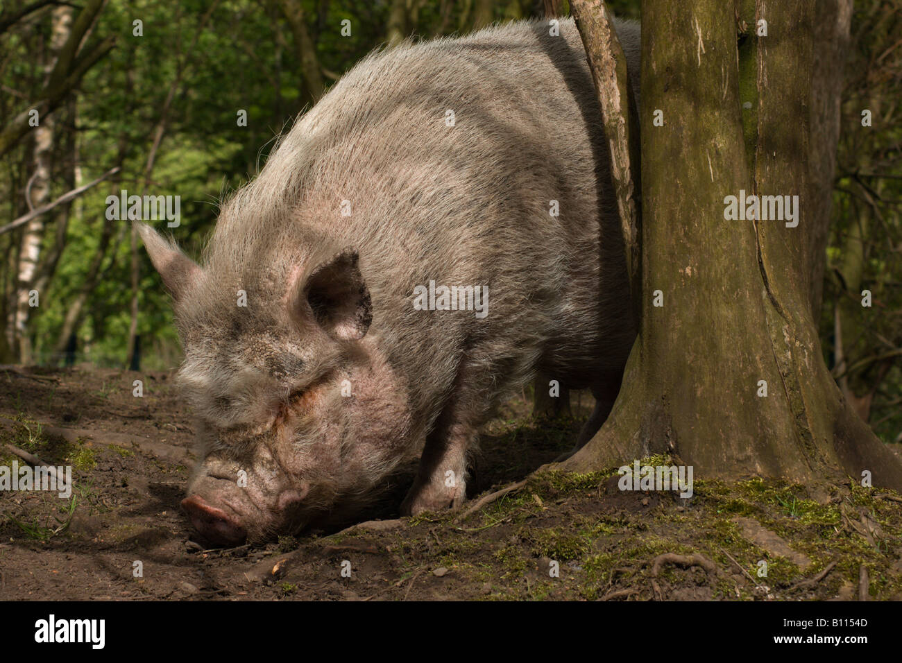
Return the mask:
[[0,492],[0,599],[902,599],[897,493],[696,476],[684,500],[621,492],[613,471],[545,472],[468,511],[570,447],[582,401],[555,424],[511,401],[461,511],[391,520],[408,468],[363,526],[221,549],[196,540],[179,508],[192,422],[170,374],[5,367],[0,466],[22,463],[12,444],[72,465],[75,489]]

